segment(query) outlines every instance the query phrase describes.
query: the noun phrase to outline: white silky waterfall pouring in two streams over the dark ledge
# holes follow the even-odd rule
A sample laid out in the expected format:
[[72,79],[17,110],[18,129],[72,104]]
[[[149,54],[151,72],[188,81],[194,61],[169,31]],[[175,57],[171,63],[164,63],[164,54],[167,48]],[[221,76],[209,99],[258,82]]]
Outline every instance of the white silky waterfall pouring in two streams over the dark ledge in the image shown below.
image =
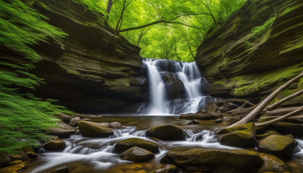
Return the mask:
[[[151,88],[150,114],[167,115],[190,112],[195,113],[198,111],[201,102],[204,103],[205,97],[201,92],[201,79],[204,81],[205,79],[201,77],[196,62],[182,62],[165,59],[143,59],[143,63],[146,64],[148,69],[148,79]],[[177,113],[175,113],[175,110],[172,110],[173,108],[170,108],[170,103],[181,101],[183,98],[178,98],[178,100],[173,101],[167,99],[165,83],[162,79],[161,72],[173,73],[183,82],[185,87],[185,99],[187,102],[184,103],[181,111]]]

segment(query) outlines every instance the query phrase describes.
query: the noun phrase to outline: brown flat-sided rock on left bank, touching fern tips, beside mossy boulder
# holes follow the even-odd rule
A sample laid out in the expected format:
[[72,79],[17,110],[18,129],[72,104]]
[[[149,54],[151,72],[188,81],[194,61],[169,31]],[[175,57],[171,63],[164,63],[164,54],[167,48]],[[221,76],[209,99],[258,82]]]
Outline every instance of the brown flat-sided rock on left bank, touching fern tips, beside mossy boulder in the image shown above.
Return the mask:
[[76,132],[75,128],[72,128],[69,124],[65,124],[62,121],[59,121],[56,125],[58,127],[50,128],[52,131],[50,135],[59,136],[60,138],[68,138]]

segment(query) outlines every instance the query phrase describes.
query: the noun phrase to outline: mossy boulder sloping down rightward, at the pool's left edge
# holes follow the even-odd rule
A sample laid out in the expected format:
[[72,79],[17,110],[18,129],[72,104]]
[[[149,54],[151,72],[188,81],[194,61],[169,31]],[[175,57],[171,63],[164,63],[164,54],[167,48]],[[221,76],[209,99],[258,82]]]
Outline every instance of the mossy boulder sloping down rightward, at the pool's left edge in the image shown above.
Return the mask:
[[112,129],[90,121],[78,121],[78,127],[82,136],[89,138],[106,138],[114,135]]

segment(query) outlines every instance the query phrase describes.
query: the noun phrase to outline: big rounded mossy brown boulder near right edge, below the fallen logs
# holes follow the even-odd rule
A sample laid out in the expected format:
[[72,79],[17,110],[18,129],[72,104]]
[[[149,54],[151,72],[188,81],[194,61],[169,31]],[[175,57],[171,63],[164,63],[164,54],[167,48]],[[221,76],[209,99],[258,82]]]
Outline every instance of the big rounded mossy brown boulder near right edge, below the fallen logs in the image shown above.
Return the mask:
[[281,135],[270,135],[259,141],[258,152],[275,155],[281,159],[291,159],[298,142]]

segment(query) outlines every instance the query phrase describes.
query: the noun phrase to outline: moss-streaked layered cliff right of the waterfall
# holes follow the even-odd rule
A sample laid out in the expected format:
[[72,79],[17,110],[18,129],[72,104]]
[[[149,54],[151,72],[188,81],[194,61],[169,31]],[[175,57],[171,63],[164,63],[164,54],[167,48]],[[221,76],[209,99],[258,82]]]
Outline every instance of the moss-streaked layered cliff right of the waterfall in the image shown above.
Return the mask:
[[[256,98],[274,91],[303,70],[303,5],[299,0],[249,1],[209,33],[195,61],[213,79],[209,91],[221,97]],[[276,99],[302,89],[291,85]],[[303,96],[288,101],[296,105]]]

